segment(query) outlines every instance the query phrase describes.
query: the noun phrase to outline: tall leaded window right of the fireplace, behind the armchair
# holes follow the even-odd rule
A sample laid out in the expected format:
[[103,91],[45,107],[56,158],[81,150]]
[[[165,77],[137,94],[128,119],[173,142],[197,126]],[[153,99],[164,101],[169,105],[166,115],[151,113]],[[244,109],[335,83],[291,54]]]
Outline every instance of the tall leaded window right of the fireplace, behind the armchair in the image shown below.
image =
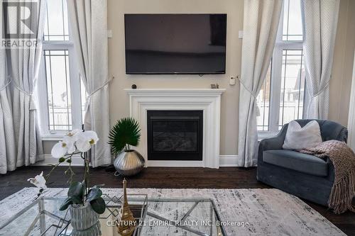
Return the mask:
[[265,82],[256,99],[258,132],[277,133],[303,116],[305,67],[300,0],[284,0],[278,36]]

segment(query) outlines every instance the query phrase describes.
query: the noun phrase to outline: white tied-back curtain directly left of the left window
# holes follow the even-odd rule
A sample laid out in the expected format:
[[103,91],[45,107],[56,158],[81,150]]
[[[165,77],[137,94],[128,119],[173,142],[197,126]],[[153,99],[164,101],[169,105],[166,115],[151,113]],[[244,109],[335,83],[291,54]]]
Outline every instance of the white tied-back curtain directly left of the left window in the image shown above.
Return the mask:
[[[31,26],[29,28],[35,33],[38,43],[32,47],[11,47],[6,52],[8,73],[11,78],[12,118],[13,131],[15,133],[15,141],[13,142],[10,136],[9,141],[6,142],[13,142],[10,145],[14,145],[16,149],[15,155],[9,153],[9,156],[6,157],[8,170],[14,169],[14,163],[16,163],[16,167],[28,166],[44,158],[34,92],[42,55],[41,40],[45,23],[46,1],[38,1],[37,4],[31,4],[29,0],[27,2],[26,6],[31,12]],[[28,40],[26,35],[20,35],[19,38],[20,40]],[[11,115],[7,114],[7,116]],[[12,150],[12,147],[9,148]]]

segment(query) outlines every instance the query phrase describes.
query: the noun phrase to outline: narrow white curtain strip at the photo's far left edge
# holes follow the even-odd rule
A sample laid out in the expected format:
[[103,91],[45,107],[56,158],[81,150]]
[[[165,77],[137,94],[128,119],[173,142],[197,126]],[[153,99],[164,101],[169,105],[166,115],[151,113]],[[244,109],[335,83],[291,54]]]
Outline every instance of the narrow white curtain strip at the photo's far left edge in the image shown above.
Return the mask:
[[[3,4],[0,16],[4,16]],[[0,33],[4,33],[4,18],[0,17]],[[7,74],[6,50],[0,49],[0,174],[16,169],[15,133],[11,108],[10,77]]]

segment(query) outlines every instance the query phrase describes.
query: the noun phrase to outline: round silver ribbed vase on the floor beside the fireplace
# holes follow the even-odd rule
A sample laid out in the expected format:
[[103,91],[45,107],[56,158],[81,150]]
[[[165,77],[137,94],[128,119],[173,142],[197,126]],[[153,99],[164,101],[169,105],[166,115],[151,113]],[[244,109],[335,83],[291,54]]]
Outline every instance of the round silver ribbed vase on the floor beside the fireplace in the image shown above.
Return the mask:
[[138,174],[144,168],[146,161],[136,150],[121,152],[114,160],[114,168],[123,176]]

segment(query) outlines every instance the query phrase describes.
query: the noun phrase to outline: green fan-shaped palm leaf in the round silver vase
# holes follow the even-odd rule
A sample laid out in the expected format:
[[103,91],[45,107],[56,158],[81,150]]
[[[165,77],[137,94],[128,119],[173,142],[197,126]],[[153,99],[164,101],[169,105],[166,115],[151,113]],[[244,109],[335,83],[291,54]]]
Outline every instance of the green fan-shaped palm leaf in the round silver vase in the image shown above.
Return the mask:
[[109,145],[112,154],[119,154],[123,149],[128,151],[129,145],[137,146],[141,139],[141,129],[139,123],[134,118],[121,118],[109,133]]

